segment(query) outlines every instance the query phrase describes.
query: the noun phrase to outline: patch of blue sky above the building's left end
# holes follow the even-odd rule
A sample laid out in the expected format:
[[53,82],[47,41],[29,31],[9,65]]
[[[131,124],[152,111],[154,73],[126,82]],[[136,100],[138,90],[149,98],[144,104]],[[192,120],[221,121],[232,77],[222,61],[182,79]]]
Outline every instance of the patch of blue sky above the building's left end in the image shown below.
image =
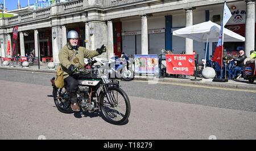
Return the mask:
[[[0,0],[0,3],[3,3],[3,1],[4,0]],[[34,3],[36,3],[36,0],[19,0],[20,7],[28,6],[28,1],[30,2],[30,5],[34,5]],[[38,0],[38,3],[42,1],[43,0]],[[5,7],[8,10],[18,9],[18,0],[5,0]]]

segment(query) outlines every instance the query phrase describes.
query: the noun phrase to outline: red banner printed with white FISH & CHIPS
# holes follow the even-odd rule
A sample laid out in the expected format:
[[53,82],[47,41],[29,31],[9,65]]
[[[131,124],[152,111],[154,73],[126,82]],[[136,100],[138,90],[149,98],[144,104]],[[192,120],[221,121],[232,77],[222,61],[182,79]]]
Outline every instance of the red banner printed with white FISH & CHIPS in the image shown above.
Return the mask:
[[166,54],[166,72],[168,74],[193,75],[195,56],[193,54]]

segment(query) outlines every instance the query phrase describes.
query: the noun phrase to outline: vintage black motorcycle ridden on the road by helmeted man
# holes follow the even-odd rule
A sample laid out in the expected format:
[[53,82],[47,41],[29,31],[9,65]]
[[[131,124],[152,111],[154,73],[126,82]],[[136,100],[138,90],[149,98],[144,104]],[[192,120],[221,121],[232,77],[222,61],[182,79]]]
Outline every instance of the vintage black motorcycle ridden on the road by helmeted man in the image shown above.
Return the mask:
[[[75,58],[73,62],[79,63],[79,59]],[[76,74],[83,74],[85,70],[87,73],[93,74],[95,69],[91,67],[94,62],[89,63],[88,68],[80,69],[79,73]],[[54,79],[52,80],[54,81]],[[79,76],[78,81],[77,104],[79,104],[82,111],[88,111],[89,113],[99,111],[102,118],[112,124],[122,125],[126,123],[131,106],[127,94],[119,87],[119,81],[109,79],[106,75],[94,79],[85,79]],[[68,99],[66,83],[61,89],[58,89],[54,83],[52,83],[52,86],[52,97],[57,109],[63,113],[71,113],[72,108]]]

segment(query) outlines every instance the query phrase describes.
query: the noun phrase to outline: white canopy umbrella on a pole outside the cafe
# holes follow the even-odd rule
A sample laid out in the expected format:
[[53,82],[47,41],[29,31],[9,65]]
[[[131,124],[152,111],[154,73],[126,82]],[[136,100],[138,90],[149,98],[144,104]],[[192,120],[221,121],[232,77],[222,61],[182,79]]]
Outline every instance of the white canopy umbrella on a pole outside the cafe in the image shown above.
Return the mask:
[[[175,30],[172,35],[186,37],[201,43],[207,43],[205,51],[205,60],[208,48],[208,42],[218,42],[221,26],[211,21],[195,24],[193,26]],[[245,41],[245,37],[224,28],[224,41]],[[205,65],[205,63],[204,63]]]

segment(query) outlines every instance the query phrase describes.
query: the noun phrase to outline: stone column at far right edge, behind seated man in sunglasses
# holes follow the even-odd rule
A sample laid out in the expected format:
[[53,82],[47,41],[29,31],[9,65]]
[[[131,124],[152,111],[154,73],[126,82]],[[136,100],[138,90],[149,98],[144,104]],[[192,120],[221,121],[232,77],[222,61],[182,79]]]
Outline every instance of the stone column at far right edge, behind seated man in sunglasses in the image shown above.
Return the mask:
[[245,21],[245,54],[250,57],[250,51],[255,47],[255,1],[246,0]]

